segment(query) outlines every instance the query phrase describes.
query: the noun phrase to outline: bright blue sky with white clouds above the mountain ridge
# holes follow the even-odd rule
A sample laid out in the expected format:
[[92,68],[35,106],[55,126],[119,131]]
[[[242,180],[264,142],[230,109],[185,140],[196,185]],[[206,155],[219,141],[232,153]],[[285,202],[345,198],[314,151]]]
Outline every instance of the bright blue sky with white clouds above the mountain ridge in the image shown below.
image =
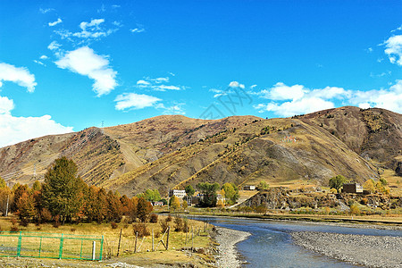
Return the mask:
[[0,1],[0,147],[161,114],[402,113],[400,1]]

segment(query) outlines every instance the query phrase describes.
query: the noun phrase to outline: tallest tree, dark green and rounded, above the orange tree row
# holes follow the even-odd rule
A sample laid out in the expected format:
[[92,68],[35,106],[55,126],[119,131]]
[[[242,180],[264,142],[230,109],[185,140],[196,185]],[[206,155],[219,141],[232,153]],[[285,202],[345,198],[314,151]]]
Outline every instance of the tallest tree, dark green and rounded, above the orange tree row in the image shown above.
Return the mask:
[[52,215],[71,220],[83,205],[84,181],[77,175],[77,165],[66,157],[56,159],[45,174],[43,201]]

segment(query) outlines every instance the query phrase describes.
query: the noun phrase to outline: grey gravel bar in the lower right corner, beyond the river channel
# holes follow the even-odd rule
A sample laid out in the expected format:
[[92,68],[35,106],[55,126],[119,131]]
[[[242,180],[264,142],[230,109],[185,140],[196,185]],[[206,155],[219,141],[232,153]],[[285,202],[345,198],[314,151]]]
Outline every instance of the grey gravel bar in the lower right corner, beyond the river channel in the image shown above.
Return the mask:
[[402,267],[402,237],[364,236],[314,231],[291,233],[309,250],[368,267]]

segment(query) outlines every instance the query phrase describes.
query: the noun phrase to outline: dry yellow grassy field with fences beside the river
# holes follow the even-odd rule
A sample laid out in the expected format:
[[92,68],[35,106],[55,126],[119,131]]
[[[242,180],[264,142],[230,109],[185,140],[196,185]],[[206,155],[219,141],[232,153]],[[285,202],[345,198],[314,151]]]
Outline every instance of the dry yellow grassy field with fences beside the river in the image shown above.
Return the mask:
[[[163,221],[166,216],[159,216],[159,221]],[[11,230],[13,223],[12,217],[1,217],[0,227],[3,231]],[[144,238],[138,238],[137,241],[137,253],[134,253],[135,246],[135,233],[133,227],[129,223],[122,221],[117,223],[115,229],[112,228],[110,223],[79,223],[79,224],[65,224],[58,228],[54,228],[52,224],[44,223],[40,225],[35,225],[30,223],[29,226],[23,227],[21,225],[17,226],[23,232],[35,232],[35,235],[40,235],[44,233],[58,233],[62,234],[64,237],[68,236],[78,236],[78,235],[90,235],[90,236],[104,236],[104,262],[125,262],[128,264],[136,264],[140,266],[151,266],[152,264],[200,264],[206,262],[212,262],[214,260],[212,255],[209,255],[209,247],[211,246],[211,239],[208,236],[208,231],[211,230],[212,226],[207,225],[204,222],[197,222],[188,219],[188,229],[189,232],[174,231],[174,217],[172,217],[172,222],[169,222],[171,227],[169,236],[169,250],[166,250],[163,244],[166,244],[167,234],[163,237],[163,231],[161,230],[161,225],[159,223],[147,223],[147,229],[150,232],[149,236]],[[152,251],[152,230],[154,230],[155,240],[154,249]],[[193,230],[193,239],[191,239]],[[121,232],[121,247],[119,246],[119,238]],[[10,243],[9,240],[2,241],[2,239],[9,239],[0,237],[0,244],[4,245],[4,242]],[[17,240],[18,238],[13,238]],[[163,242],[160,240],[163,239]],[[64,243],[73,243],[66,242]],[[66,248],[76,247],[78,252],[80,252],[80,243],[77,245],[65,245]],[[24,248],[34,248],[38,247],[38,239],[25,239],[23,240]],[[84,252],[86,255],[90,255],[92,250],[92,242],[88,245],[84,244]],[[16,246],[15,246],[16,247]],[[47,239],[42,243],[42,247],[46,249],[43,251],[49,256],[51,253],[57,253],[60,247],[60,239]],[[195,247],[197,252],[191,253],[190,250],[181,250],[184,248]],[[71,256],[69,254],[69,249],[63,250],[63,255]],[[119,256],[117,253],[119,251]],[[44,254],[42,254],[44,255]],[[46,254],[45,254],[46,256]],[[83,261],[85,262],[85,261]]]

